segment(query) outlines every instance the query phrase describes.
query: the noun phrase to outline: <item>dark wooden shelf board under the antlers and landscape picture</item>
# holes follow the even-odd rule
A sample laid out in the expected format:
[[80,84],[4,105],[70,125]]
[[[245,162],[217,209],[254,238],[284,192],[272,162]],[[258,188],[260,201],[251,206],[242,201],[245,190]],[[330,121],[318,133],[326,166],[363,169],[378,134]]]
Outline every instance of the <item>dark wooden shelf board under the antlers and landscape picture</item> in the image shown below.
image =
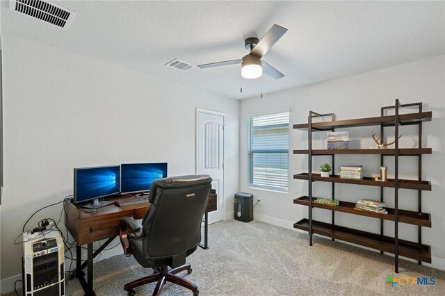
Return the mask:
[[[401,148],[398,149],[399,156],[416,156],[421,154],[431,154],[431,148]],[[293,154],[309,154],[309,150],[293,150]],[[314,149],[312,155],[333,155],[333,154],[380,154],[392,155],[396,154],[396,149]]]

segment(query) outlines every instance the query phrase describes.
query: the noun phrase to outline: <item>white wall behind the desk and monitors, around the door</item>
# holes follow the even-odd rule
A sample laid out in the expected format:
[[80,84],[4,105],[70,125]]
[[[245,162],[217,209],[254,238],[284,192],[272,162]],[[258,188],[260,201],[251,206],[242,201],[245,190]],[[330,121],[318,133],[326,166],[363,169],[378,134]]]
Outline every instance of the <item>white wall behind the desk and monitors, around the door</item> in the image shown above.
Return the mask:
[[[169,175],[195,173],[197,107],[226,113],[225,195],[238,190],[239,101],[13,35],[2,38],[3,279],[21,273],[22,245],[13,241],[24,222],[72,194],[74,167],[165,161]],[[26,229],[44,217],[58,220],[61,210],[59,204],[41,211]],[[120,246],[101,258],[118,253]]]

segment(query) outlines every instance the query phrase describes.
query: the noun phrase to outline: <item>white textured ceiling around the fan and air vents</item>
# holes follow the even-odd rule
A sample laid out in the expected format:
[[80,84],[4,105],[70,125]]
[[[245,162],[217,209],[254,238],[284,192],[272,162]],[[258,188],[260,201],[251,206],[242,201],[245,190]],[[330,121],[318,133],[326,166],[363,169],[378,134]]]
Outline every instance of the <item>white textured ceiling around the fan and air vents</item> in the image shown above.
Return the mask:
[[[234,99],[445,54],[444,1],[52,1],[67,30],[9,10],[1,31]],[[241,79],[241,66],[166,67],[242,58],[244,40],[289,31],[264,56],[286,76]],[[240,86],[243,92],[240,92]]]

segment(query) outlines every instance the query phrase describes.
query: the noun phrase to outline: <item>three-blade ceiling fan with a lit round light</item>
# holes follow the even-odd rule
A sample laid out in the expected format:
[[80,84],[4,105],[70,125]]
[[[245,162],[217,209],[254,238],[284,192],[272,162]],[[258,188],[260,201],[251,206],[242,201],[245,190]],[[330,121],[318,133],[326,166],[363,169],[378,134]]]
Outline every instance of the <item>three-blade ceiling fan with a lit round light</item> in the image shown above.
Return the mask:
[[264,60],[261,60],[261,58],[268,52],[270,47],[273,47],[273,44],[282,38],[282,35],[284,35],[286,31],[286,28],[274,24],[266,35],[261,38],[261,40],[258,40],[258,38],[255,37],[250,37],[244,40],[244,47],[245,49],[250,50],[250,53],[243,56],[242,59],[225,60],[224,62],[198,65],[197,67],[205,69],[210,67],[241,64],[241,76],[244,78],[258,78],[264,71],[264,73],[268,74],[268,76],[272,77],[273,79],[280,79],[284,77],[284,74],[266,63]]

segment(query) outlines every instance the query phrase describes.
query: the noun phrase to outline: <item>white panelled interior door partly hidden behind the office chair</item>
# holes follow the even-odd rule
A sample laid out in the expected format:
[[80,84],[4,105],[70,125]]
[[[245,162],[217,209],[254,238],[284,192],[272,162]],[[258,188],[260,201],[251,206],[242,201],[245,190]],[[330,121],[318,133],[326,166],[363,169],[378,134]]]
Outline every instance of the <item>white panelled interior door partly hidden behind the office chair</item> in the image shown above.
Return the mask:
[[209,223],[224,220],[224,113],[196,110],[196,173],[209,174],[218,196],[218,210],[209,213]]

